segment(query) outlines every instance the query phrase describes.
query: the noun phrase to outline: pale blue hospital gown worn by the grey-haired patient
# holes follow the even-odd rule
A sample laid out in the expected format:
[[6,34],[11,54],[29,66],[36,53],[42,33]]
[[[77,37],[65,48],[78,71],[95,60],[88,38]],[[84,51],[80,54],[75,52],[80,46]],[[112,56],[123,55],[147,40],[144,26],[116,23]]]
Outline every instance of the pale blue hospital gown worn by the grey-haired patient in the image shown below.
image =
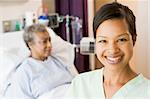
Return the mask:
[[13,75],[6,89],[7,99],[37,99],[53,88],[71,83],[73,75],[55,57],[45,61],[26,59]]

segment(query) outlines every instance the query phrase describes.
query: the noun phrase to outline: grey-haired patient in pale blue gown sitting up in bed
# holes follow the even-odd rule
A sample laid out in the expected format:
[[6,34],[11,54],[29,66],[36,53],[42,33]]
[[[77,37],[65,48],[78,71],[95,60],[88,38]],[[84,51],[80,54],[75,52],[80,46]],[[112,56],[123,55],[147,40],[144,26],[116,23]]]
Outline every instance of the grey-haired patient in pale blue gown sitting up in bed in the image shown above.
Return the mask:
[[51,55],[51,37],[45,26],[29,26],[23,38],[31,55],[16,69],[5,97],[37,99],[57,86],[71,83],[74,76],[67,66]]

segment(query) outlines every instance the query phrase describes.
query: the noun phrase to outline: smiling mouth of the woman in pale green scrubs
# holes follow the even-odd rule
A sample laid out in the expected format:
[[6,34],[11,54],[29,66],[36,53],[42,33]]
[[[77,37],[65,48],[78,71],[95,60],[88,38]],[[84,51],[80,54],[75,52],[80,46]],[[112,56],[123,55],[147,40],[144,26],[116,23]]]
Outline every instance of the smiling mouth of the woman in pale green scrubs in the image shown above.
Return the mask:
[[118,64],[121,61],[122,56],[117,56],[117,57],[116,56],[115,57],[106,56],[105,58],[109,64]]

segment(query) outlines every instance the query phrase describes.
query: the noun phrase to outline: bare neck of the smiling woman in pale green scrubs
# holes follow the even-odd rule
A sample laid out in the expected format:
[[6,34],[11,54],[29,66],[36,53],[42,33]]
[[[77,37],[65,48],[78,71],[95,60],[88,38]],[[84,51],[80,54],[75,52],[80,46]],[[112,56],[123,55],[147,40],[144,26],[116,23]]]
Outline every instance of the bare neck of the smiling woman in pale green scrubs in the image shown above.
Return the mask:
[[109,85],[124,85],[135,76],[137,74],[131,70],[129,65],[115,70],[104,68],[104,83]]

